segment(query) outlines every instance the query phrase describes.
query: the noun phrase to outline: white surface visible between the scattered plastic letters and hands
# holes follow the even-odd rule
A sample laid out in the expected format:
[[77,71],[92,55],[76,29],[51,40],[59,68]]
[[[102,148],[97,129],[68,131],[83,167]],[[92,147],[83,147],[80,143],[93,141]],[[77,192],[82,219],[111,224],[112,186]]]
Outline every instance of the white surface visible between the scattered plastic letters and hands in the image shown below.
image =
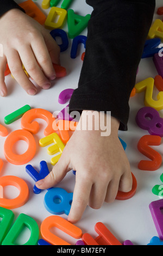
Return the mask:
[[[18,2],[18,1],[17,1]],[[23,2],[23,1],[19,1]],[[18,3],[19,3],[18,2]],[[34,1],[38,6],[41,7],[41,0]],[[58,4],[60,7],[61,2]],[[158,7],[162,6],[162,1],[156,1],[156,10]],[[92,8],[85,3],[85,1],[74,0],[71,9],[79,15],[85,16],[86,14],[91,14]],[[50,9],[43,10],[43,13],[48,14]],[[160,18],[156,15],[156,10],[154,14],[154,20]],[[161,17],[162,18],[162,17]],[[67,32],[67,23],[63,29]],[[133,28],[134,29],[134,28]],[[82,32],[86,35],[86,29]],[[67,70],[67,76],[64,78],[59,78],[55,80],[53,86],[49,90],[40,90],[35,96],[29,96],[24,92],[24,90],[16,83],[10,75],[5,77],[5,81],[8,87],[8,96],[1,97],[0,99],[0,123],[4,125],[4,117],[9,113],[15,111],[16,109],[28,104],[32,108],[44,108],[53,113],[54,111],[60,111],[66,106],[60,105],[58,103],[59,93],[66,88],[77,88],[78,80],[80,75],[80,70],[82,68],[82,60],[80,59],[82,53],[84,52],[84,46],[81,45],[78,50],[78,56],[76,59],[71,59],[72,40],[69,39],[68,50],[61,53],[61,65],[65,66]],[[134,50],[133,50],[134,51]],[[142,59],[139,65],[139,73],[137,74],[136,82],[140,82],[147,77],[155,77],[157,71],[153,63],[152,58]],[[153,98],[156,99],[158,91],[155,89]],[[158,236],[154,222],[152,220],[151,212],[149,211],[149,204],[158,200],[159,197],[152,193],[152,188],[156,184],[162,185],[160,181],[160,175],[162,174],[162,166],[154,171],[143,171],[137,168],[137,164],[140,160],[148,160],[137,150],[137,143],[143,135],[149,134],[145,130],[141,130],[135,123],[135,116],[137,111],[145,106],[143,103],[143,97],[145,93],[136,94],[134,97],[130,98],[130,117],[128,122],[128,131],[120,131],[119,136],[127,143],[126,154],[128,156],[131,170],[134,173],[137,180],[137,191],[133,198],[125,201],[115,200],[114,203],[106,204],[102,206],[99,210],[93,210],[86,208],[82,220],[80,220],[76,225],[82,229],[83,233],[90,233],[93,237],[97,236],[95,232],[95,224],[97,222],[103,222],[106,227],[114,234],[120,242],[125,240],[131,240],[134,245],[147,245],[153,236]],[[160,117],[163,118],[163,112],[159,111]],[[39,170],[40,161],[47,161],[49,170],[52,169],[51,157],[47,154],[47,147],[41,148],[39,146],[39,139],[43,137],[43,130],[46,127],[45,121],[37,119],[40,124],[39,132],[34,135],[37,143],[36,155],[29,162],[34,168]],[[10,125],[5,125],[9,132],[21,129],[21,120],[17,120]],[[43,205],[43,199],[47,191],[42,191],[40,194],[33,193],[34,181],[26,173],[26,164],[22,166],[15,166],[5,160],[3,153],[3,144],[6,137],[0,137],[0,158],[4,162],[4,166],[1,176],[4,175],[16,175],[24,179],[29,187],[30,197],[28,202],[20,208],[13,209],[15,219],[19,214],[24,213],[34,218],[37,224],[41,225],[41,222],[51,214],[45,209]],[[108,145],[109,146],[109,145]],[[162,144],[160,146],[153,147],[161,155],[163,155]],[[17,143],[17,152],[22,154],[22,151],[26,151],[26,142]],[[91,161],[91,159],[90,159]],[[58,184],[58,187],[64,188],[67,192],[73,192],[75,182],[75,176],[72,171],[66,175],[64,180]],[[4,187],[4,197],[14,198],[18,195],[18,190],[12,186]],[[61,217],[67,219],[67,216],[61,215]],[[59,234],[60,237],[70,242],[72,245],[76,243],[76,239],[73,239],[69,235],[64,234],[62,231],[57,229],[52,230],[55,234]],[[24,243],[28,240],[30,233],[28,230],[24,230],[24,234],[17,239],[17,243]],[[41,238],[41,236],[40,236]]]

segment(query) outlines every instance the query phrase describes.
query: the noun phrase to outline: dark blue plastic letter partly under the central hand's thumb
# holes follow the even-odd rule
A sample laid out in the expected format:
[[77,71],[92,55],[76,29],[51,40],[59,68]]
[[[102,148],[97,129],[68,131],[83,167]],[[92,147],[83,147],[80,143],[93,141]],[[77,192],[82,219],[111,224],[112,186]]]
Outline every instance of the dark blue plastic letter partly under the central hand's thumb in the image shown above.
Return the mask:
[[[26,166],[26,172],[33,178],[34,181],[38,181],[38,180],[44,179],[49,174],[49,169],[46,161],[41,161],[39,173],[33,168],[31,164],[28,164]],[[48,190],[49,189],[50,188],[48,188]],[[39,194],[41,190],[40,188],[37,188],[36,185],[34,185],[33,192],[35,194]]]

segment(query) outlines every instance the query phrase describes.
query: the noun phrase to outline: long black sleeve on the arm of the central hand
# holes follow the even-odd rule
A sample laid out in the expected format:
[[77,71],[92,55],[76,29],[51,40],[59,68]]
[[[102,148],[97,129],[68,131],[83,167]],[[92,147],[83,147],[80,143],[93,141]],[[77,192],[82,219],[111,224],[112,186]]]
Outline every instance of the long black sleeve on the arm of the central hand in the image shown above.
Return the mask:
[[69,110],[111,111],[127,130],[129,97],[153,20],[154,0],[86,0],[93,7]]

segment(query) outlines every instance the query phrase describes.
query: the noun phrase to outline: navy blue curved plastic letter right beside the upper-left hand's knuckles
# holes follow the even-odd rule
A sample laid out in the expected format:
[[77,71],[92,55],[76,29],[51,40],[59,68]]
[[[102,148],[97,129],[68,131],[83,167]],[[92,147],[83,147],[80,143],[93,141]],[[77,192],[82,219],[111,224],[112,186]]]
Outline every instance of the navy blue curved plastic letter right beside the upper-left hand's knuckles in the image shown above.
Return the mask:
[[62,44],[59,45],[60,47],[60,52],[64,52],[68,48],[68,38],[67,34],[63,29],[53,29],[50,34],[52,35],[53,39],[56,41],[56,37],[59,36],[62,40]]

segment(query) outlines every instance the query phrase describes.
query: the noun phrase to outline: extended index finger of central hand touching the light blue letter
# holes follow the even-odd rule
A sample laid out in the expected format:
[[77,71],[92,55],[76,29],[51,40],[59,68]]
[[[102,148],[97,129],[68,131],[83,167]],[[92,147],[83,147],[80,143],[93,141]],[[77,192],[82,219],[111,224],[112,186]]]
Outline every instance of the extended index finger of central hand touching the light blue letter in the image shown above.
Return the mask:
[[71,205],[68,221],[76,223],[82,218],[83,212],[89,202],[90,192],[92,188],[92,181],[83,179],[76,172],[76,185],[74,186],[73,200]]

